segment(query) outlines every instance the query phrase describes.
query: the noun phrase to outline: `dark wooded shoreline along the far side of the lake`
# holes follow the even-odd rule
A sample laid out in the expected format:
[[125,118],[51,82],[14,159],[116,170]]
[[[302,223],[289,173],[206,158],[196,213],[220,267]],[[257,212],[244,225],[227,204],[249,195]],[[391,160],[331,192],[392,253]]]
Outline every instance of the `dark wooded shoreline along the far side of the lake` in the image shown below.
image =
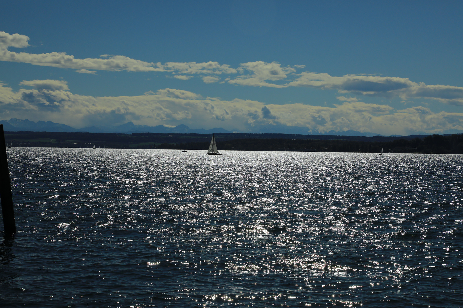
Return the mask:
[[[364,137],[291,134],[217,133],[220,150],[330,151],[463,154],[463,135]],[[210,134],[5,132],[8,145],[37,147],[206,150]]]

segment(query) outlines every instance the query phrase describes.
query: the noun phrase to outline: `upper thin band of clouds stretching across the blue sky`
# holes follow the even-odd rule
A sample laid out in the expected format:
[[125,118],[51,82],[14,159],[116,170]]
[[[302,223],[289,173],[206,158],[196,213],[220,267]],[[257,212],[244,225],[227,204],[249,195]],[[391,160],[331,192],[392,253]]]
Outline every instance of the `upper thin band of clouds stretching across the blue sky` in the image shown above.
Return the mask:
[[[79,73],[95,74],[96,71],[170,72],[180,80],[199,76],[204,83],[272,88],[311,87],[336,90],[340,94],[384,97],[387,99],[432,99],[439,103],[463,106],[463,87],[451,85],[425,85],[408,78],[348,74],[331,76],[328,73],[297,72],[304,65],[282,66],[278,62],[246,62],[233,68],[216,61],[196,62],[147,62],[123,55],[103,54],[100,58],[76,59],[66,53],[46,54],[16,53],[8,48],[26,48],[29,37],[18,33],[10,35],[0,31],[0,60],[29,63],[38,66],[75,69]],[[225,77],[220,77],[226,75]]]

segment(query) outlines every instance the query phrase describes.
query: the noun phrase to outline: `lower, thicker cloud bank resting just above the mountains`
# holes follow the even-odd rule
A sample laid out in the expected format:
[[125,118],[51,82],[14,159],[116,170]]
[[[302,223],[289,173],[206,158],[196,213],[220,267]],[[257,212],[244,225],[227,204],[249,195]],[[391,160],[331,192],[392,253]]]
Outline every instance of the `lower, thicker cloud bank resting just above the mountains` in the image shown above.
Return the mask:
[[24,80],[19,91],[0,84],[0,118],[53,121],[72,127],[118,125],[188,125],[258,132],[262,127],[304,127],[309,133],[329,131],[410,135],[463,132],[463,113],[439,112],[416,106],[396,110],[388,105],[338,97],[335,107],[301,103],[265,104],[254,100],[222,100],[190,91],[161,89],[141,96],[93,97],[73,94],[66,81]]

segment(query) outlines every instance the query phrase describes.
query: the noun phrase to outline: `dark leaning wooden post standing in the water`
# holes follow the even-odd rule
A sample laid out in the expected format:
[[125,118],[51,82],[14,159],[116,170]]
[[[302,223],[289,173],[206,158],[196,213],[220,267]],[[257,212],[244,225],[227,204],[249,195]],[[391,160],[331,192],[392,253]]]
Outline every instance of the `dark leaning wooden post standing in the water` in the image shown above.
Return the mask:
[[0,124],[0,142],[3,142],[3,145],[0,146],[0,200],[3,213],[3,228],[5,229],[5,235],[12,235],[16,233],[16,224],[14,223],[13,195],[11,193],[3,124]]

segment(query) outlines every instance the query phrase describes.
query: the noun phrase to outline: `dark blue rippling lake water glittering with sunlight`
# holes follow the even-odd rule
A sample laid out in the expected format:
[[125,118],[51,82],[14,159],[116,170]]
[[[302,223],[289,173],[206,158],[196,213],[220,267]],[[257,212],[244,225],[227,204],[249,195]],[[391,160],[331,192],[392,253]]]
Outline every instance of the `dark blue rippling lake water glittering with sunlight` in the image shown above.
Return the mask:
[[1,307],[463,305],[461,155],[7,153]]

